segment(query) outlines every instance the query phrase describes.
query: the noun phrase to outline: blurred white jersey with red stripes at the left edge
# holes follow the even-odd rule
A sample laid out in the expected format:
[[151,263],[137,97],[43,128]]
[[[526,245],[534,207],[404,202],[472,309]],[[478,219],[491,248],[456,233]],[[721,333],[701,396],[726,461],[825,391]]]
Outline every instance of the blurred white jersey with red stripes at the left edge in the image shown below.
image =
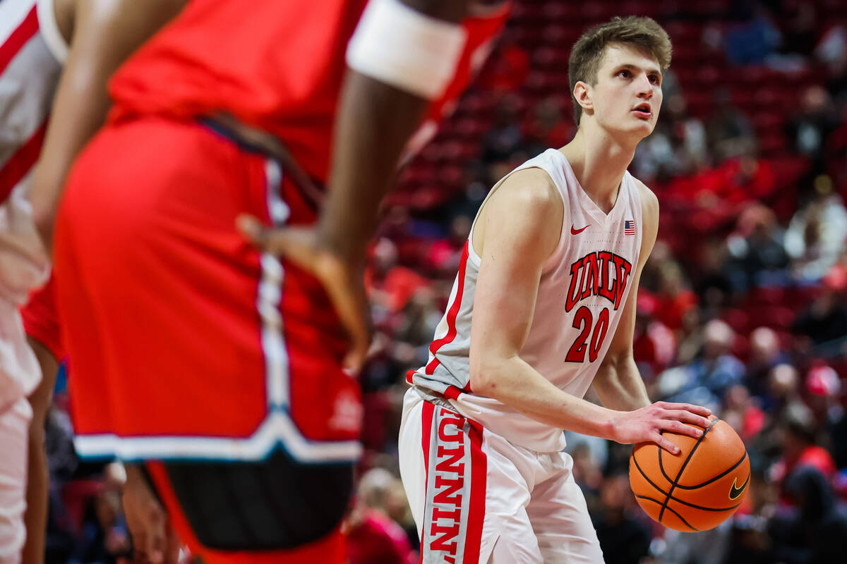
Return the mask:
[[66,52],[53,0],[0,2],[0,410],[38,385],[17,306],[49,271],[29,190]]

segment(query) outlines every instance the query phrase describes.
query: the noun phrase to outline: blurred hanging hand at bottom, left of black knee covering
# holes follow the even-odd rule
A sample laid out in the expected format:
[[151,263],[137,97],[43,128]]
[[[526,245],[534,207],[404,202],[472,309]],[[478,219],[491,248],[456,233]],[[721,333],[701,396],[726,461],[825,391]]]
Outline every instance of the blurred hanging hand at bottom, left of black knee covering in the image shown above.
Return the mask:
[[177,564],[180,540],[168,515],[136,466],[126,469],[124,513],[132,535],[134,561],[150,564]]

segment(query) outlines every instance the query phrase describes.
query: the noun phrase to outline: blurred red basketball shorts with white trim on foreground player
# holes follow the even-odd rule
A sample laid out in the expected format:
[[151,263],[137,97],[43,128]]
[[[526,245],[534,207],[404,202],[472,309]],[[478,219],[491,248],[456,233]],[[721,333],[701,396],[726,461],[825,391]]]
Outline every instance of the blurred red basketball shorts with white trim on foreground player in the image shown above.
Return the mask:
[[103,129],[69,174],[54,268],[77,452],[357,458],[361,403],[323,288],[235,217],[308,224],[285,171],[196,122]]

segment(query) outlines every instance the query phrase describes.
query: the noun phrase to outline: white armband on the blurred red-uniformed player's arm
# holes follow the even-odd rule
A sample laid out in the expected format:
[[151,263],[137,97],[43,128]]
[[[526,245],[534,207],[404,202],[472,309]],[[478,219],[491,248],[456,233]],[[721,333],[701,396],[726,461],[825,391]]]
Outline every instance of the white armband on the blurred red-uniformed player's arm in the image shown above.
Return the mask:
[[399,0],[370,0],[347,46],[347,64],[432,100],[450,84],[466,35],[462,25],[420,14]]

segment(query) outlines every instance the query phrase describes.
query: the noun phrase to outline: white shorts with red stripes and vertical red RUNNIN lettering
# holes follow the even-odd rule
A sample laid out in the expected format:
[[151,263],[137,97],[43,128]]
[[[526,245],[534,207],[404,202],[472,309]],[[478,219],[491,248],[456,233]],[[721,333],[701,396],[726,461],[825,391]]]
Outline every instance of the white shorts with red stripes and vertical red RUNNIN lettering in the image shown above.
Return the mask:
[[400,471],[424,564],[602,564],[572,467],[406,393]]

